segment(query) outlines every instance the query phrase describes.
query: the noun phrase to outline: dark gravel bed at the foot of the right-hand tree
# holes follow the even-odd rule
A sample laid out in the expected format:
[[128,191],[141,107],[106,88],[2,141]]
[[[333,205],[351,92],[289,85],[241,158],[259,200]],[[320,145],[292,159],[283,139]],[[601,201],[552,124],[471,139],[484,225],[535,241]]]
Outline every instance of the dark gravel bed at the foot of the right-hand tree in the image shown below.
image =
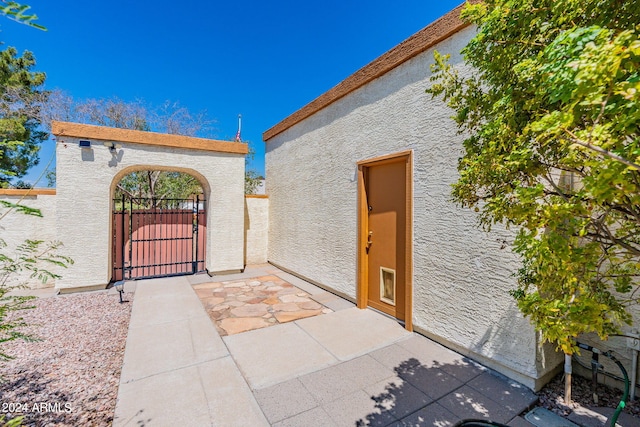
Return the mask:
[[[549,409],[561,416],[568,416],[579,406],[588,408],[592,406],[604,406],[608,408],[617,408],[622,391],[605,385],[598,385],[598,405],[593,404],[591,392],[591,379],[586,379],[574,375],[571,381],[571,405],[564,404],[564,377],[562,374],[556,376],[549,384],[544,386],[538,397],[540,398],[540,406]],[[627,402],[623,412],[638,419],[640,425],[640,401],[637,399]]]

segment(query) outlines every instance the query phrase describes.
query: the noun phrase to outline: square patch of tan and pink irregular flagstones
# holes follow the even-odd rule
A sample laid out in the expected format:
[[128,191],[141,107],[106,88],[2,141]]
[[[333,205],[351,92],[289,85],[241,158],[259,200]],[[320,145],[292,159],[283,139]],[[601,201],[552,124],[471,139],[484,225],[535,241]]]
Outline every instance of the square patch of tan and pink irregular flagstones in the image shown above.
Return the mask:
[[193,289],[222,336],[333,312],[276,275],[199,283]]

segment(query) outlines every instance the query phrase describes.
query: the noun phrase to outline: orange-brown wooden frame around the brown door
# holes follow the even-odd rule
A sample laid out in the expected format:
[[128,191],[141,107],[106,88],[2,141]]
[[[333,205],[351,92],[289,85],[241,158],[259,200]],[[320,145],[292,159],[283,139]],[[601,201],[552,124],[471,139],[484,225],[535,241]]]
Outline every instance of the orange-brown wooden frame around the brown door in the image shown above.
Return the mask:
[[405,329],[413,331],[413,150],[387,154],[372,159],[361,160],[358,165],[358,272],[357,272],[357,306],[367,308],[369,292],[369,268],[366,253],[368,237],[368,207],[365,197],[365,171],[369,167],[386,163],[404,162],[405,164],[405,200],[406,200],[406,239],[405,239]]

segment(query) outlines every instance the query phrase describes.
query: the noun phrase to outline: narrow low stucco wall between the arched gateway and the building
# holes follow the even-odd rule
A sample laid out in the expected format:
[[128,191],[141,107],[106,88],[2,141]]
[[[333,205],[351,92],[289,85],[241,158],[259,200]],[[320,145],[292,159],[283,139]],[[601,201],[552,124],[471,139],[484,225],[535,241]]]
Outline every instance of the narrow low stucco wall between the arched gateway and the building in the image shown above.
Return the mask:
[[269,242],[269,199],[266,197],[245,198],[245,264],[267,262]]

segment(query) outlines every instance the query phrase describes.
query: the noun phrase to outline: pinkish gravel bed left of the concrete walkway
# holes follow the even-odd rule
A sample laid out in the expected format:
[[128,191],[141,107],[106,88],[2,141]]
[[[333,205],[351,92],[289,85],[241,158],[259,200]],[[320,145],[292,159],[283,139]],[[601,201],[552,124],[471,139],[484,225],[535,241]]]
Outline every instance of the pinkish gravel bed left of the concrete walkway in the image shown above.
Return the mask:
[[42,298],[18,312],[36,342],[3,345],[0,414],[28,426],[110,425],[118,395],[133,294]]

